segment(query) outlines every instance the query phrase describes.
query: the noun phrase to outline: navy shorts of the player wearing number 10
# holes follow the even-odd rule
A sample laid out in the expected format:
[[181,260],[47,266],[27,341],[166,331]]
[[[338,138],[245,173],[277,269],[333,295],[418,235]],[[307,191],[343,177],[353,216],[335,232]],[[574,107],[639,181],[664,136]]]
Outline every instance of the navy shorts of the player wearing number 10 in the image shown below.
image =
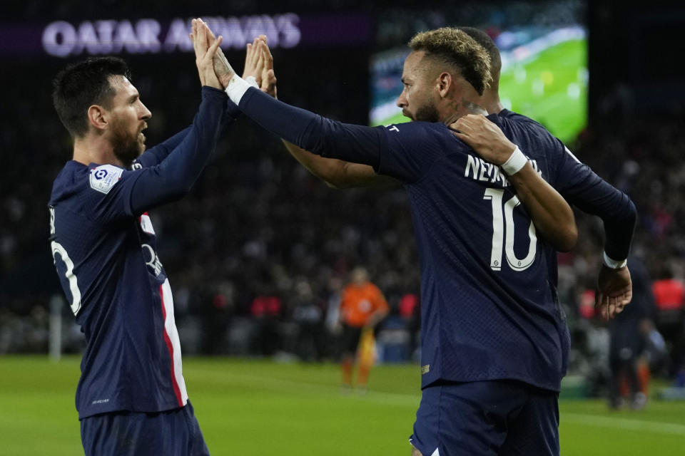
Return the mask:
[[515,381],[437,383],[423,390],[410,442],[423,456],[557,456],[558,399]]

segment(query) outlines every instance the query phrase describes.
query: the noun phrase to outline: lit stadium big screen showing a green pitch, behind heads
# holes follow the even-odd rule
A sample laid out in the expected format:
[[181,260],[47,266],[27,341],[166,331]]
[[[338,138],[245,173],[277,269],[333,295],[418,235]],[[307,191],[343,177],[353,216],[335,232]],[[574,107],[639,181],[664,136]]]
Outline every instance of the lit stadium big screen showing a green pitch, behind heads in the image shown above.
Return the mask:
[[409,120],[395,105],[406,43],[414,33],[441,26],[477,27],[492,37],[502,55],[504,108],[538,120],[565,142],[584,128],[587,28],[580,1],[502,2],[380,16],[370,71],[371,125]]

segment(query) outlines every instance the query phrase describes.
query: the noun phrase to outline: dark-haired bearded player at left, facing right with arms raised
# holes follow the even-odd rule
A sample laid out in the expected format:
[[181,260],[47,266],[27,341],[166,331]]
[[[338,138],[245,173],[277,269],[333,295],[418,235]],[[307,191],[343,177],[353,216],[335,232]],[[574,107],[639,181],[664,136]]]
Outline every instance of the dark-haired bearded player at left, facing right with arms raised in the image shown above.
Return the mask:
[[220,130],[239,113],[213,71],[221,37],[208,43],[198,24],[193,20],[191,33],[202,85],[198,113],[150,150],[143,130],[151,113],[123,60],[88,58],[54,79],[73,158],[54,182],[50,241],[86,336],[76,390],[86,455],[208,455],[147,213],[188,193]]

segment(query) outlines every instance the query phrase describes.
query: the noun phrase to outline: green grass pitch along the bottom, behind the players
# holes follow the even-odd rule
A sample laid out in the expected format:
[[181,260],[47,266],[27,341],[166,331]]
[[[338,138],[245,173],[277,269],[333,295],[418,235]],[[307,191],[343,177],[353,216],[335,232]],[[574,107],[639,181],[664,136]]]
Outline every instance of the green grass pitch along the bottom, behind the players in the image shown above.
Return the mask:
[[[83,454],[76,357],[0,357],[0,455]],[[377,366],[370,392],[343,395],[337,366],[186,358],[186,384],[213,455],[410,455],[417,366]],[[685,403],[610,413],[560,402],[562,455],[682,455]]]

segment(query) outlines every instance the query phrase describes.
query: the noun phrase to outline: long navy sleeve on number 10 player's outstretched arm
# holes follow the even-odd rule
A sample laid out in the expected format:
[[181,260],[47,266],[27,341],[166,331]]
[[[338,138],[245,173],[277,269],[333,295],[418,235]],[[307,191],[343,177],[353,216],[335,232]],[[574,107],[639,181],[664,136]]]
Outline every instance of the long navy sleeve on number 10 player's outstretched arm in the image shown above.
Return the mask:
[[[430,123],[366,127],[336,122],[249,88],[240,110],[266,130],[323,157],[371,165],[381,174],[414,182],[441,147],[431,141]],[[417,153],[420,151],[420,153]],[[444,151],[442,152],[444,154]]]

